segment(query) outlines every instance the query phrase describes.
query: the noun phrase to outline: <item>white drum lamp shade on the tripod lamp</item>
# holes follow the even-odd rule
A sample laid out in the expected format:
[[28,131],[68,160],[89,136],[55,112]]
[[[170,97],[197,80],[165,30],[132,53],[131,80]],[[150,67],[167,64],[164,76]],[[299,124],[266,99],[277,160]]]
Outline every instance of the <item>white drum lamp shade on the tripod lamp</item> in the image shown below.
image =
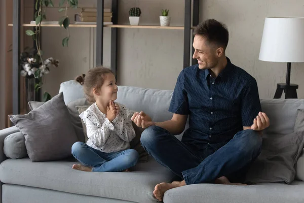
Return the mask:
[[304,17],[265,18],[259,60],[304,62]]

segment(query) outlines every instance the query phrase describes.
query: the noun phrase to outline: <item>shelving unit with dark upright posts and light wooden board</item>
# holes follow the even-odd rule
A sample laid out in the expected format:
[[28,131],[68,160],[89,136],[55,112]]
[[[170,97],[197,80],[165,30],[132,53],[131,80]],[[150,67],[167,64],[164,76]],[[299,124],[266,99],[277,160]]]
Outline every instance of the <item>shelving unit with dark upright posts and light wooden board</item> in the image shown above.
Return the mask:
[[[20,114],[20,27],[35,27],[34,24],[21,24],[20,21],[20,3],[21,0],[13,0],[13,114]],[[193,7],[192,7],[193,1]],[[97,0],[97,22],[91,24],[70,24],[69,27],[96,27],[96,65],[103,64],[103,29],[111,29],[111,70],[117,77],[117,53],[118,53],[118,29],[119,28],[137,28],[137,29],[176,29],[184,31],[183,46],[183,68],[190,65],[190,56],[194,49],[190,49],[193,39],[192,30],[199,23],[200,0],[184,0],[184,26],[153,26],[153,25],[119,25],[118,24],[118,0],[112,0],[112,22],[113,25],[103,24],[104,0]],[[192,24],[191,24],[192,20]],[[42,24],[42,27],[60,27],[58,24]],[[192,64],[197,61],[192,60]]]

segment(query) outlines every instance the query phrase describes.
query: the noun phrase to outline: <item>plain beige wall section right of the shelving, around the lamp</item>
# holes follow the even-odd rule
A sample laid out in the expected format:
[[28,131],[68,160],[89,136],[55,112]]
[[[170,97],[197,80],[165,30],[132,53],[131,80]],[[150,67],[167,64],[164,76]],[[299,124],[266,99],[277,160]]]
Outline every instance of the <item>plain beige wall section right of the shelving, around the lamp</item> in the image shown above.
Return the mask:
[[[286,81],[286,63],[258,60],[265,17],[304,16],[302,0],[203,0],[201,21],[215,18],[227,24],[230,42],[227,56],[256,80],[261,98],[273,98],[277,83]],[[304,63],[293,63],[291,83],[299,85],[297,94],[304,98]],[[284,93],[283,96],[284,97]]]

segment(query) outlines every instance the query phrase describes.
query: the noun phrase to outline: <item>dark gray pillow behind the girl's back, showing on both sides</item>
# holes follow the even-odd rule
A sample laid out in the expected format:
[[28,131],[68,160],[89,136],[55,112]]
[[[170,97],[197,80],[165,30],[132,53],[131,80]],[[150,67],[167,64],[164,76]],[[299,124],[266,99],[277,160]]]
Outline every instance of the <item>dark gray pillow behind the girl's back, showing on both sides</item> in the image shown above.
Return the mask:
[[[76,109],[78,110],[79,114],[83,113],[84,111],[86,111],[90,106],[81,106],[81,107],[76,107]],[[86,136],[86,142],[88,140],[88,136],[87,136],[87,128],[86,128],[86,124],[84,123],[83,120],[81,120],[82,125],[83,125],[83,129],[84,129],[84,133]],[[130,142],[130,147],[131,149],[135,149],[138,154],[139,154],[139,158],[138,161],[139,162],[147,162],[148,161],[148,153],[143,149],[143,147],[140,144],[140,137],[141,137],[141,133],[144,129],[142,129],[141,127],[138,127],[134,122],[132,122],[134,130],[135,130],[135,138]]]

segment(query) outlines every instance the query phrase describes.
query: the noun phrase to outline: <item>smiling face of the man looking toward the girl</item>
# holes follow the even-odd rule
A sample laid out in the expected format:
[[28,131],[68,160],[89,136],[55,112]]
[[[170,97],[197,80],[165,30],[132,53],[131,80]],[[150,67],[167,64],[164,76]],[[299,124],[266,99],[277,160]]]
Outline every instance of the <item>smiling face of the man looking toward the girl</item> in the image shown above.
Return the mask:
[[198,60],[199,69],[212,69],[218,63],[215,45],[210,44],[202,36],[196,35],[193,40],[195,52],[193,58]]

